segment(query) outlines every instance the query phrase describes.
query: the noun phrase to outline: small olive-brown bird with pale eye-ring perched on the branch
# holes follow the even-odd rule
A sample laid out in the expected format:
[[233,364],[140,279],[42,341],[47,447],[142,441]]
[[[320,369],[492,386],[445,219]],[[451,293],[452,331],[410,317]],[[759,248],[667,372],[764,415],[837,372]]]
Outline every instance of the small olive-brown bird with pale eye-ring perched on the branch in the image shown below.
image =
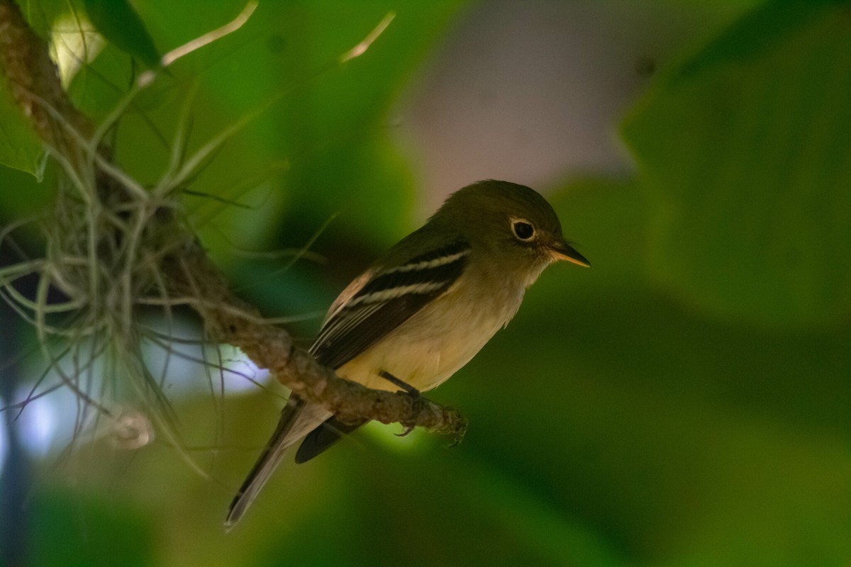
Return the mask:
[[[368,388],[430,390],[508,324],[526,288],[559,260],[590,265],[564,240],[544,197],[506,181],[468,185],[340,293],[310,352]],[[231,502],[226,528],[242,518],[290,445],[304,439],[295,461],[306,462],[363,422],[340,422],[291,394]]]

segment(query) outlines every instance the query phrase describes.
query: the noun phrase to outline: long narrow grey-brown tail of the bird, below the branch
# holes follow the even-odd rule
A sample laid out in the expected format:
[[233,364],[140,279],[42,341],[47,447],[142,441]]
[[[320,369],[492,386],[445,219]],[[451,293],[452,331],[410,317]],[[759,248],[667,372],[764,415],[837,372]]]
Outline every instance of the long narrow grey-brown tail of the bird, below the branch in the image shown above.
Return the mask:
[[[266,443],[266,448],[260,453],[260,458],[254,463],[254,468],[248,473],[248,476],[240,486],[237,496],[233,497],[231,508],[225,519],[225,529],[230,530],[236,524],[243,514],[254,502],[254,498],[260,493],[260,490],[266,485],[266,481],[271,477],[271,473],[275,471],[284,452],[290,445],[301,439],[307,431],[316,427],[316,422],[322,422],[328,414],[321,417],[312,415],[303,415],[306,403],[299,396],[292,394],[289,397],[287,405],[281,410],[281,417],[278,419],[277,428],[271,434],[269,442]],[[306,411],[305,414],[314,414],[315,411]],[[298,425],[296,423],[298,422]],[[295,427],[294,427],[295,425]]]

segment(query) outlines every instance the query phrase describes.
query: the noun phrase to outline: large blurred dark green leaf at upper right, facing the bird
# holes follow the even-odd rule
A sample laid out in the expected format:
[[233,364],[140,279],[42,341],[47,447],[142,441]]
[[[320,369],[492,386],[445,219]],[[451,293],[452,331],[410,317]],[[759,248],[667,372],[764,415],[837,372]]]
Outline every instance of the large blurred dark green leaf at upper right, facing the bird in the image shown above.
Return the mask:
[[717,315],[851,313],[848,6],[773,2],[660,78],[623,132],[654,278]]

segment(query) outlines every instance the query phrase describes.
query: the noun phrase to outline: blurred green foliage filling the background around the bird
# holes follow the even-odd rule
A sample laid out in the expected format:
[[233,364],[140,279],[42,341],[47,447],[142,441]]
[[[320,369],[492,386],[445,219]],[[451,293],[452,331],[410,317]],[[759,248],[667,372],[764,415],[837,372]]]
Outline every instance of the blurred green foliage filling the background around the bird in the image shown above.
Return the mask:
[[[24,4],[42,32],[69,6]],[[33,564],[851,564],[851,12],[752,4],[719,3],[740,15],[633,105],[621,133],[634,178],[551,191],[594,267],[549,269],[511,326],[433,395],[471,420],[459,448],[371,428],[284,466],[225,535],[281,400],[180,399],[212,479],[162,443],[133,456],[86,447],[84,462],[37,477],[21,542]],[[134,6],[140,21],[104,35],[143,25],[161,53],[242,8]],[[248,207],[187,195],[186,210],[270,315],[324,309],[414,228],[415,156],[388,111],[462,8],[260,3],[138,100],[117,162],[153,183],[186,116],[191,149],[283,94],[191,185]],[[390,10],[367,54],[334,63]],[[78,74],[84,111],[102,118],[116,104],[129,54],[151,60],[141,41],[107,44]],[[0,112],[20,124],[3,97]],[[3,134],[0,162],[35,172],[27,133]],[[54,179],[0,168],[3,223],[49,201]],[[300,247],[335,213],[313,247],[328,264],[283,270],[234,252]]]

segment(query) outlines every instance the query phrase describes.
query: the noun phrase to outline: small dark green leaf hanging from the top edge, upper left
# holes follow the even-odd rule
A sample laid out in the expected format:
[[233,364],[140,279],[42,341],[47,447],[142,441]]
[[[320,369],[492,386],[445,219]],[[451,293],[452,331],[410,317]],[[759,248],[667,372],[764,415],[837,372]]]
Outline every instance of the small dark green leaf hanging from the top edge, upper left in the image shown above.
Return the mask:
[[127,0],[83,0],[83,6],[108,42],[148,67],[160,65],[160,54],[151,35]]

